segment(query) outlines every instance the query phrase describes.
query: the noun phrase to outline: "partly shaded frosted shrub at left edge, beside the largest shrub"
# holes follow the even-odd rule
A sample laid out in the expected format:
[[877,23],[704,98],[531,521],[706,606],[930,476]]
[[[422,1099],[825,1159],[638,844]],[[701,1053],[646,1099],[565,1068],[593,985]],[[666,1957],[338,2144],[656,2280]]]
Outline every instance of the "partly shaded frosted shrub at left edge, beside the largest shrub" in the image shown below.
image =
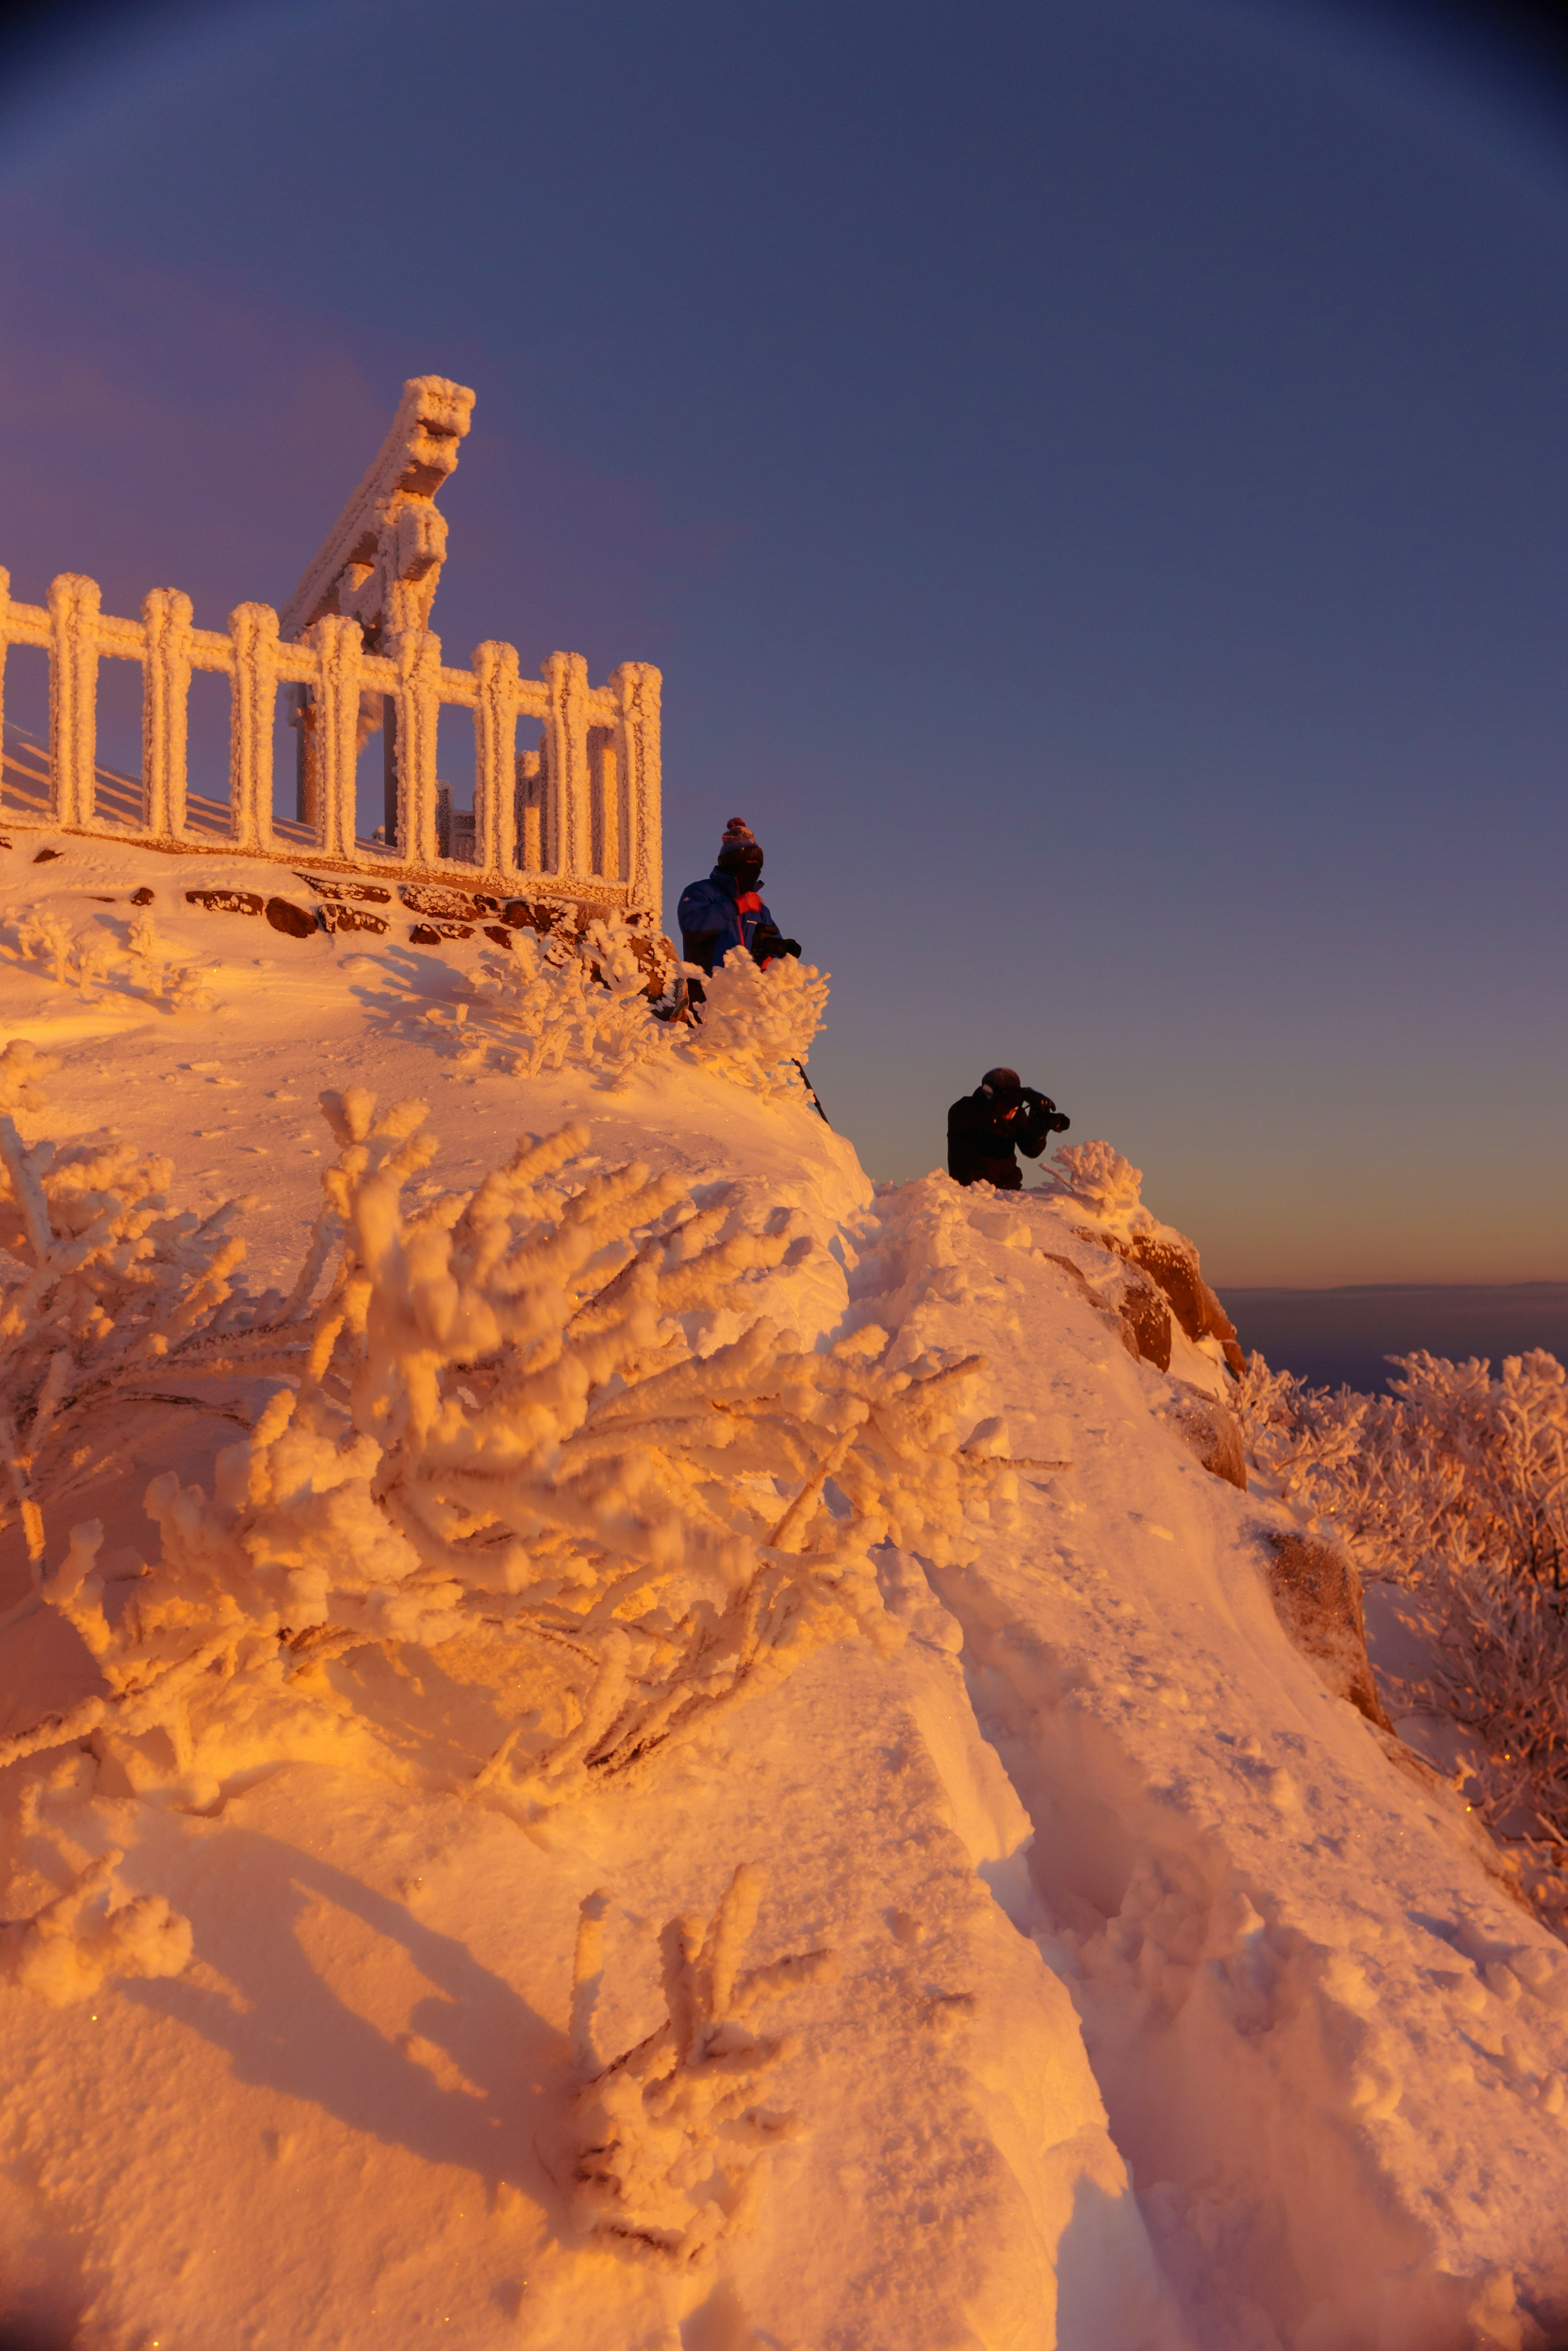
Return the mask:
[[174,1213],[167,1159],[24,1143],[14,1114],[45,1107],[54,1067],[21,1039],[0,1056],[0,1526],[21,1519],[35,1578],[56,1495],[160,1420],[212,1413],[193,1385],[294,1368],[308,1331],[299,1291],[284,1302],[235,1286],[240,1201]]

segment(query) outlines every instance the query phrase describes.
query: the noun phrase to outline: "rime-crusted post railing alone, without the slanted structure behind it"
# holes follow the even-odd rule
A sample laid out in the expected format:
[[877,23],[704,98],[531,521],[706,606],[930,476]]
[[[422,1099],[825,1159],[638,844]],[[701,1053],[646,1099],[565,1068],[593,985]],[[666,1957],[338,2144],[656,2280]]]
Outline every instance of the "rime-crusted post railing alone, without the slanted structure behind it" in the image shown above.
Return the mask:
[[[176,588],[153,588],[141,621],[118,621],[101,609],[96,581],[73,571],[49,583],[47,607],[12,602],[9,574],[0,571],[0,717],[9,644],[49,656],[49,788],[47,804],[19,806],[7,795],[7,823],[162,849],[219,846],[209,828],[188,825],[186,762],[190,677],[216,670],[230,679],[230,851],[296,860],[306,846],[331,865],[374,872],[461,872],[468,884],[489,875],[637,910],[661,903],[661,675],[646,661],[623,661],[604,686],[590,686],[581,654],[550,654],[534,679],[520,672],[515,647],[480,644],[473,670],[451,670],[433,630],[404,632],[390,654],[369,654],[360,623],[343,614],[327,614],[301,644],[287,644],[270,604],[240,604],[221,635],[193,625],[190,597]],[[103,658],[141,663],[141,818],[129,825],[108,820],[96,804]],[[303,835],[289,823],[287,839],[275,839],[273,741],[277,694],[289,684],[310,696],[313,804],[301,806]],[[395,846],[355,830],[364,696],[383,696],[395,722]],[[473,710],[473,851],[461,860],[440,851],[442,705]],[[522,757],[520,719],[543,726],[538,750]]]

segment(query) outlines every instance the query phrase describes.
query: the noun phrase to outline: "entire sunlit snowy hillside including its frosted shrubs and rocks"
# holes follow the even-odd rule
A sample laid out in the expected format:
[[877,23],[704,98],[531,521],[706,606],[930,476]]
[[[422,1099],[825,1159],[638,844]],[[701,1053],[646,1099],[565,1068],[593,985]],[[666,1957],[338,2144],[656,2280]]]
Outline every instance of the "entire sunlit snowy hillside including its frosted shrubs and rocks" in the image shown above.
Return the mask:
[[875,1190],[820,997],[240,882],[0,851],[7,2320],[1566,2339],[1568,1954],[1124,1161]]

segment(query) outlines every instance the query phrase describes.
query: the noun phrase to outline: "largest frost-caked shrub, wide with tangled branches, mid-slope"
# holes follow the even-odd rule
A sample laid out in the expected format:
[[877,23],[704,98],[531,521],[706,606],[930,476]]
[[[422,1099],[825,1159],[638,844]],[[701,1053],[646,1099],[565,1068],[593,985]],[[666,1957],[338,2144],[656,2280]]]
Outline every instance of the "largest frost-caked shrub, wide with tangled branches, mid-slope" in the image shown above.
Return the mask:
[[501,1686],[522,1643],[557,1672],[559,1719],[520,1719],[477,1787],[531,1808],[635,1768],[820,1641],[891,1639],[877,1545],[959,1556],[964,1509],[1006,1479],[959,1453],[978,1361],[917,1378],[889,1368],[882,1331],[802,1354],[764,1319],[698,1352],[811,1246],[788,1220],[757,1230],[672,1176],[583,1166],[581,1128],[409,1213],[435,1157],[423,1105],[322,1105],[341,1255],[306,1357],[270,1366],[287,1385],[212,1493],[153,1481],[160,1556],[113,1625],[99,1528],[73,1528],[42,1596],[108,1695],[0,1759],[115,1721],[167,1728],[200,1768],[205,1735],[221,1747],[254,1707],[242,1690],[292,1683],[294,1702],[355,1648],[447,1641],[491,1643]]

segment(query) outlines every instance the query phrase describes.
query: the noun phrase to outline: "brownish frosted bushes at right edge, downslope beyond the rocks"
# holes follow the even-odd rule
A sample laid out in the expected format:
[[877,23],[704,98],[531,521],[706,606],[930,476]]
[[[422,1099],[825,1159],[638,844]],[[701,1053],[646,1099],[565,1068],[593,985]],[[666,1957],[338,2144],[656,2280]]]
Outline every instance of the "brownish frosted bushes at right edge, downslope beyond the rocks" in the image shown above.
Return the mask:
[[1234,1404],[1286,1502],[1363,1573],[1443,1610],[1439,1697],[1488,1749],[1486,1820],[1568,1860],[1568,1373],[1556,1357],[1396,1357],[1387,1396],[1314,1389],[1253,1354]]

